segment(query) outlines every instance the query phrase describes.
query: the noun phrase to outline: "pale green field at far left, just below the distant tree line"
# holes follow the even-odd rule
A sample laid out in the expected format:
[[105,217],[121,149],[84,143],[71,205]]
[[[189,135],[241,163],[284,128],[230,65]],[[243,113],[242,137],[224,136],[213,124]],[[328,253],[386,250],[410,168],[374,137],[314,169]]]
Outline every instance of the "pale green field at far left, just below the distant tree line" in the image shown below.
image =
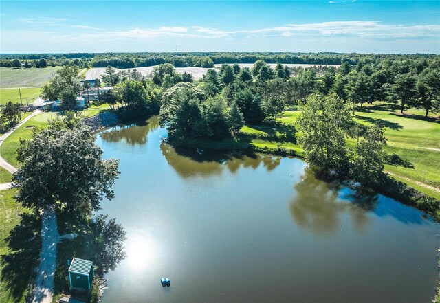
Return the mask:
[[45,82],[54,78],[56,71],[61,67],[45,67],[37,69],[10,69],[0,68],[0,88],[10,87],[41,87]]

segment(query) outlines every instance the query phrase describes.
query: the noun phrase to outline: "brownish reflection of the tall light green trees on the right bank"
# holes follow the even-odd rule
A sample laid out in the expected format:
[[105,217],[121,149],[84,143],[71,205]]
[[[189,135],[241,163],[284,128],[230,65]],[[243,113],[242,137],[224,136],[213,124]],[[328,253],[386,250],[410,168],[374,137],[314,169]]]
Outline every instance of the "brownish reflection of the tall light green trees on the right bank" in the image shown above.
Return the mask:
[[296,197],[290,203],[290,212],[299,227],[318,236],[330,236],[338,231],[342,216],[349,216],[358,232],[369,223],[366,212],[377,203],[376,194],[354,193],[341,199],[340,186],[317,179],[311,168],[306,168],[302,181],[294,186]]

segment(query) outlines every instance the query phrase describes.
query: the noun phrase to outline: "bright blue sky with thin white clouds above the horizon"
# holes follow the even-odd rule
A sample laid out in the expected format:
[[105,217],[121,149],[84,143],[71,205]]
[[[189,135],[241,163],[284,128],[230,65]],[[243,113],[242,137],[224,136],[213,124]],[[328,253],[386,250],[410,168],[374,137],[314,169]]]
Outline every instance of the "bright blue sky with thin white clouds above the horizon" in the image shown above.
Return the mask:
[[440,1],[0,1],[0,52],[440,53]]

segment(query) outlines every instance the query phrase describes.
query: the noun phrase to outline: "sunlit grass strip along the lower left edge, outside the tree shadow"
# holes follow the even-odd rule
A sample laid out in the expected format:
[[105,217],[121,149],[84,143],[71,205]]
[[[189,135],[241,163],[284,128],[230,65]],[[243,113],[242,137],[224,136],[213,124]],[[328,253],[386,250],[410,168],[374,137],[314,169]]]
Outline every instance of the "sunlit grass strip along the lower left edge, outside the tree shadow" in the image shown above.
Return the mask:
[[[5,238],[9,236],[12,228],[20,223],[20,214],[23,207],[19,205],[14,197],[16,189],[0,190],[0,258],[10,253]],[[0,262],[0,302],[13,303],[24,302],[25,289],[22,287],[12,290],[7,279],[1,276],[3,262]]]

